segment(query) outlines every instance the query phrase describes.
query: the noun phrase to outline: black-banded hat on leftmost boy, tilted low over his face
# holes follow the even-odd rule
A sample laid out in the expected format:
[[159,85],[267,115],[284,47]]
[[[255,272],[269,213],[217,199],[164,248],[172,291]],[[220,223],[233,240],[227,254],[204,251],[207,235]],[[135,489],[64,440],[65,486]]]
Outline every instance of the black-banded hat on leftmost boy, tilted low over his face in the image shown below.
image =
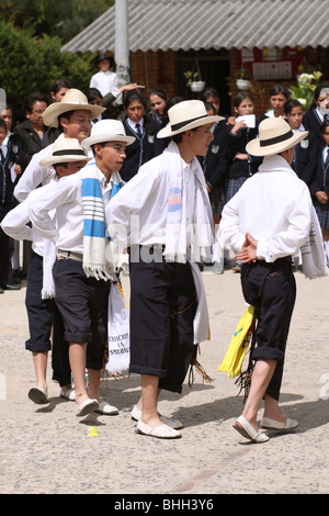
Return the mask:
[[42,159],[39,165],[49,168],[57,164],[89,161],[89,159],[77,138],[59,138],[53,145],[53,155]]

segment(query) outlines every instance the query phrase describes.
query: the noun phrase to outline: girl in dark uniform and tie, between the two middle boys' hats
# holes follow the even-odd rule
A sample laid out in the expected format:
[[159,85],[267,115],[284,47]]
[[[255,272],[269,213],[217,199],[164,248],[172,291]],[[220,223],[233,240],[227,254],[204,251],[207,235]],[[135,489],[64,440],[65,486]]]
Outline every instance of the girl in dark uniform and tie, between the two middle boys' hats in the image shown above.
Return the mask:
[[138,91],[131,91],[124,101],[125,132],[135,137],[135,142],[126,150],[126,159],[120,171],[122,179],[127,182],[138,171],[139,167],[163,150],[163,144],[158,142],[159,126],[147,114],[147,103]]

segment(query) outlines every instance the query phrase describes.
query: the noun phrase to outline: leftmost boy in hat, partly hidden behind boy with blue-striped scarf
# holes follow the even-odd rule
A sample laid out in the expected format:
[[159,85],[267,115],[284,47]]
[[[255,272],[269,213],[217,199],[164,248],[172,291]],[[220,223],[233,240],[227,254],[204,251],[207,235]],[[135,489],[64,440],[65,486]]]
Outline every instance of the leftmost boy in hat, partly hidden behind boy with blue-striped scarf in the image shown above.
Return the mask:
[[[88,161],[84,149],[78,139],[63,138],[54,144],[52,157],[46,158],[41,165],[52,167],[58,180],[77,172],[84,167]],[[38,188],[32,192],[25,201],[14,207],[2,221],[1,227],[9,236],[16,240],[32,240],[33,257],[29,267],[26,284],[26,311],[29,318],[30,338],[25,343],[25,349],[32,352],[36,375],[36,386],[29,391],[29,397],[37,404],[49,403],[47,393],[47,359],[50,350],[50,332],[54,316],[54,292],[52,289],[52,271],[46,268],[46,261],[52,256],[52,247],[46,239],[39,238],[30,226],[29,205],[34,202],[34,198],[43,195],[44,189],[48,189],[52,183],[44,188]],[[56,325],[54,332],[57,330]],[[65,368],[65,360],[61,364],[56,363],[54,354],[59,350],[53,346],[53,369],[54,379],[58,379],[61,385],[61,395],[67,397],[70,384],[70,370]],[[60,355],[60,354],[59,354]],[[61,354],[63,356],[67,354]],[[63,380],[63,381],[60,381]]]

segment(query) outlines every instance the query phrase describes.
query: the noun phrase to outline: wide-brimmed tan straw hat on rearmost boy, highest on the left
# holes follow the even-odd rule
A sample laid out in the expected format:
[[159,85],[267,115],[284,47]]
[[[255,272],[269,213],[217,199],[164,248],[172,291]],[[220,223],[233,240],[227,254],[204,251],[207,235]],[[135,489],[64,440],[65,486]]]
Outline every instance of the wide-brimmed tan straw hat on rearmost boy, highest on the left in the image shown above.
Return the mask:
[[44,124],[48,127],[58,127],[58,116],[67,111],[90,111],[90,120],[97,119],[105,111],[105,108],[88,103],[86,94],[75,88],[69,89],[60,102],[54,102],[44,111]]

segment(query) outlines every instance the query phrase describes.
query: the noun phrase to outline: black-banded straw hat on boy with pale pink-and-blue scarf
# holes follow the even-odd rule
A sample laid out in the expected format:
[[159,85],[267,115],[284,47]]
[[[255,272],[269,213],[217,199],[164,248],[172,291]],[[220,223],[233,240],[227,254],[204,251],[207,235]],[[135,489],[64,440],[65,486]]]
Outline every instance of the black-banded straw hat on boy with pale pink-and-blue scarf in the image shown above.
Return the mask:
[[167,138],[184,131],[224,120],[224,116],[208,116],[201,100],[183,100],[168,110],[169,124],[157,134],[158,138]]

